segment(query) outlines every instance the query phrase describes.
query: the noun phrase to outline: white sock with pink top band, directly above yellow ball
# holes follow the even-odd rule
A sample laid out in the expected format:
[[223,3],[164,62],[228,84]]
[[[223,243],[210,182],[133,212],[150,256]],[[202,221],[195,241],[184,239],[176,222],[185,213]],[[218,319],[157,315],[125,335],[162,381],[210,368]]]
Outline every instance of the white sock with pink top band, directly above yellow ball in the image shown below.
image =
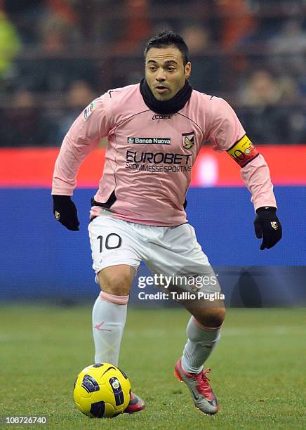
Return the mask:
[[93,340],[95,363],[118,365],[119,351],[124,326],[128,296],[115,296],[100,292],[93,305]]

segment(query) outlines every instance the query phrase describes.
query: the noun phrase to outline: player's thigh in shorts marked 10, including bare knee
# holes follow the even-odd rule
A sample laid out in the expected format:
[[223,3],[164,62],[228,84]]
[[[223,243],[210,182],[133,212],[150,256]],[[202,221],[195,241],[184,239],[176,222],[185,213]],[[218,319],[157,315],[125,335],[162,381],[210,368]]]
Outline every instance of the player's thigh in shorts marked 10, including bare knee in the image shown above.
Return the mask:
[[125,295],[141,261],[131,224],[98,216],[89,223],[88,232],[96,281],[105,292]]

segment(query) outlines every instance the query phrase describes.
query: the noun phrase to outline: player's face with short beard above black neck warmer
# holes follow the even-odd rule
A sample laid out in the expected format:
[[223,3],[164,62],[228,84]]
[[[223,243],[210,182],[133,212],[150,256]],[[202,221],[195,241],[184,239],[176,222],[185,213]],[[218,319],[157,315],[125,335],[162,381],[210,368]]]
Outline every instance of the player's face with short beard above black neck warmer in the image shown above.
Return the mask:
[[170,100],[185,85],[191,64],[184,66],[182,53],[175,46],[151,48],[145,58],[145,79],[157,100]]

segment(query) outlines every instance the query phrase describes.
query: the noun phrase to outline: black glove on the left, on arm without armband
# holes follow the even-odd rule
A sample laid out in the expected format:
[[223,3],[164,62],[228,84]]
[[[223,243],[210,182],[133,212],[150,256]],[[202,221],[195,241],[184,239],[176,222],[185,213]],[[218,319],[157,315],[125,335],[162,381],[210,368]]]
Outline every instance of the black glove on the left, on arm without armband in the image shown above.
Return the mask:
[[53,214],[68,230],[79,230],[79,220],[74,202],[69,195],[53,195]]

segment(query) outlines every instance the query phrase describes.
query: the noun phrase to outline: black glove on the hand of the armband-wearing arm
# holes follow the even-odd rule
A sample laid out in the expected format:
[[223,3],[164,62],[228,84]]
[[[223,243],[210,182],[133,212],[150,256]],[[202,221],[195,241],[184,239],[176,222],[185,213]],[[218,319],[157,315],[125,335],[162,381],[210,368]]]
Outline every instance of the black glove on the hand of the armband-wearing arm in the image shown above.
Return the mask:
[[276,212],[276,207],[269,206],[259,207],[256,211],[257,216],[254,221],[255,235],[258,239],[262,237],[261,250],[272,248],[281,240],[281,223]]

